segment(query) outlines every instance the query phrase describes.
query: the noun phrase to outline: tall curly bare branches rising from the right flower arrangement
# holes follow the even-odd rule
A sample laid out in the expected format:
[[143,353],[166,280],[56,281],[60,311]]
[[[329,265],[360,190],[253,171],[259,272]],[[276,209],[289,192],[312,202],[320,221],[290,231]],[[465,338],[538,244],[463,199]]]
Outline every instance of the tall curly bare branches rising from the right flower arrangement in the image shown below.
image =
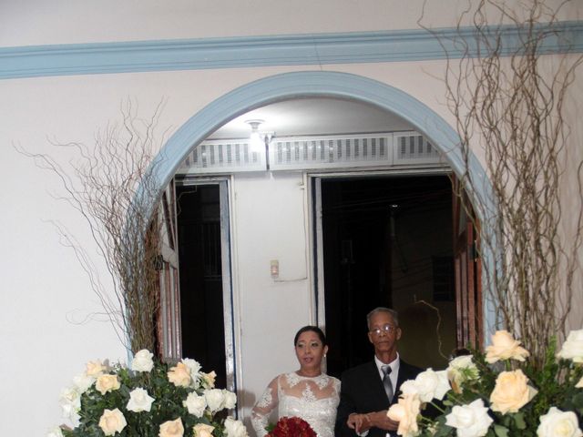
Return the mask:
[[[496,302],[498,322],[525,343],[540,367],[550,337],[564,334],[578,268],[580,201],[568,205],[577,218],[572,234],[562,236],[559,225],[567,208],[561,189],[572,178],[565,171],[565,101],[582,58],[568,50],[542,55],[548,38],[557,38],[557,13],[564,4],[552,9],[544,0],[527,0],[517,10],[504,0],[471,5],[459,18],[460,37],[447,41],[435,34],[445,52],[452,42],[464,54],[457,60],[447,56],[445,71],[448,107],[466,164],[458,177],[467,192],[477,192],[467,164],[470,146],[483,147],[496,210],[476,199],[465,207],[474,207],[482,221],[481,252],[495,255],[492,268],[484,263],[485,290]],[[468,19],[471,41],[462,36]],[[517,35],[513,46],[504,38],[509,27]],[[579,174],[576,178],[571,185],[577,185],[580,199]]]

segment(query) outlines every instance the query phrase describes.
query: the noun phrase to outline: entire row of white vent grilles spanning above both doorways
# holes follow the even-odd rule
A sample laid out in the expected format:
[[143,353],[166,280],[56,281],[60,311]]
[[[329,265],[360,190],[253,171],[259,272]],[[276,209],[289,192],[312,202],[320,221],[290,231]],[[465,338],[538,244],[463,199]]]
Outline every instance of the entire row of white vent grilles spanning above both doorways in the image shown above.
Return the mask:
[[[435,166],[438,150],[417,132],[321,137],[275,137],[270,170]],[[179,174],[238,173],[267,169],[265,153],[251,152],[248,140],[209,140],[194,147]]]

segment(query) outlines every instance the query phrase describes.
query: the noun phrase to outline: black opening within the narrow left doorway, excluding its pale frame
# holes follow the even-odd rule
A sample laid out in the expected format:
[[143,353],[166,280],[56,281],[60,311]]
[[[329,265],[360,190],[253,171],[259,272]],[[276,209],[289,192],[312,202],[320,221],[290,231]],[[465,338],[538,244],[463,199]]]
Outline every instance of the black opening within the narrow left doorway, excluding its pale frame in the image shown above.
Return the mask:
[[218,185],[177,187],[182,353],[226,387]]

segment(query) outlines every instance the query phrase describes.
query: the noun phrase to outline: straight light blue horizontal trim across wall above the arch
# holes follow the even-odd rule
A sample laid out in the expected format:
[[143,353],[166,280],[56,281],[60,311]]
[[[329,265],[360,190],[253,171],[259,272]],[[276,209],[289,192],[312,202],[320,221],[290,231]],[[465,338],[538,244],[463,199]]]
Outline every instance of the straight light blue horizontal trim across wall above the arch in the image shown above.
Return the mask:
[[[469,55],[474,56],[474,31],[467,27],[4,47],[0,78],[445,59],[465,55],[461,40],[468,42]],[[583,22],[562,22],[555,31],[544,53],[583,52]],[[507,54],[516,48],[521,31],[506,26],[502,34]]]

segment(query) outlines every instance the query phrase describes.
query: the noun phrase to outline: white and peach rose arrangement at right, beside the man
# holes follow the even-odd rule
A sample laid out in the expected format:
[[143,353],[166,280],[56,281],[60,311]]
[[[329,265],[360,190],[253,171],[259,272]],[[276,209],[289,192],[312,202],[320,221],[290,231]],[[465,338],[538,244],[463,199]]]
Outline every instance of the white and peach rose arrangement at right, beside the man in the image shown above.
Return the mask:
[[583,436],[583,330],[571,331],[558,353],[553,341],[542,371],[528,357],[499,330],[486,354],[473,351],[445,371],[405,381],[387,415],[405,437]]

